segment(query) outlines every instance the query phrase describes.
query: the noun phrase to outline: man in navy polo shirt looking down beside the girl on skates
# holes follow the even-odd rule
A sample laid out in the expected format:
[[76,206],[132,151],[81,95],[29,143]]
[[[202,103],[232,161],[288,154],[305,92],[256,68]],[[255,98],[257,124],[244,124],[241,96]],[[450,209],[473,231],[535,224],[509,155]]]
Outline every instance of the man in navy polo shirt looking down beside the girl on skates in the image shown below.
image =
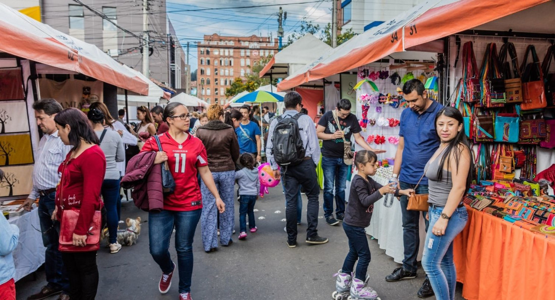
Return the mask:
[[[411,79],[403,86],[403,97],[410,109],[401,113],[399,130],[399,143],[395,154],[395,166],[393,166],[393,177],[399,174],[399,188],[414,189],[418,179],[424,173],[424,167],[432,154],[440,146],[440,140],[436,134],[435,118],[437,112],[443,106],[428,98],[424,84],[418,79]],[[428,178],[422,178],[416,194],[428,193]],[[420,248],[420,234],[418,224],[420,223],[420,212],[407,209],[408,197],[401,196],[401,213],[403,223],[403,246],[405,258],[403,266],[393,270],[386,277],[386,281],[400,281],[416,277],[418,264],[416,256]],[[422,212],[426,220],[426,213]],[[426,227],[428,223],[426,221]],[[427,230],[427,228],[426,228]],[[426,277],[422,287],[417,293],[420,298],[433,296],[430,281]]]

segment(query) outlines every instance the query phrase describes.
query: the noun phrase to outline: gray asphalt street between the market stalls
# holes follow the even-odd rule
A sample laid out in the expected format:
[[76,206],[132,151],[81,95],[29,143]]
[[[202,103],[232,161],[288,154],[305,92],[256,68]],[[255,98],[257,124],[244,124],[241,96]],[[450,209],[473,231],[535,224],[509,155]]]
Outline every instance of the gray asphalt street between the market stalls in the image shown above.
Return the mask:
[[[302,199],[305,210],[306,196],[302,196]],[[320,236],[329,238],[329,243],[309,245],[304,242],[304,211],[297,247],[290,249],[285,243],[284,203],[281,187],[270,189],[270,194],[259,198],[255,206],[258,209],[255,212],[258,232],[248,233],[244,241],[239,241],[239,202],[235,202],[237,233],[233,235],[234,243],[230,247],[218,247],[218,251],[213,253],[204,252],[199,223],[193,243],[193,299],[331,299],[331,293],[335,291],[333,275],[341,268],[349,251],[341,223],[338,226],[325,223],[321,193],[318,232]],[[148,213],[140,211],[133,202],[122,203],[122,219],[138,216],[143,221],[148,220]],[[385,251],[379,248],[377,240],[368,236],[368,242],[372,253],[368,268],[369,285],[377,291],[380,298],[419,299],[416,292],[425,278],[422,268],[418,269],[415,279],[386,282],[385,276],[400,264],[386,256]],[[134,246],[123,247],[116,254],[110,254],[103,246],[102,244],[97,258],[100,273],[97,299],[179,298],[177,274],[168,293],[160,294],[158,291],[161,271],[149,254],[148,222],[142,223],[138,243]],[[176,262],[173,238],[170,253]],[[35,274],[36,279],[30,275],[16,283],[17,299],[27,299],[46,284],[42,269]],[[461,284],[457,284],[456,299],[463,299],[461,289]]]

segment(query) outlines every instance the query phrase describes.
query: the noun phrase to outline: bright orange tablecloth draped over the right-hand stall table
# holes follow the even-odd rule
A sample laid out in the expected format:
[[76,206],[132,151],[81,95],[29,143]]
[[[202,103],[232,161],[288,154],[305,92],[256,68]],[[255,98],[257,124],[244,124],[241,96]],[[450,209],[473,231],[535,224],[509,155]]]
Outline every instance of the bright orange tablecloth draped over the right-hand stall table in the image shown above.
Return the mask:
[[462,296],[469,300],[552,299],[555,239],[467,208],[467,226],[453,241]]

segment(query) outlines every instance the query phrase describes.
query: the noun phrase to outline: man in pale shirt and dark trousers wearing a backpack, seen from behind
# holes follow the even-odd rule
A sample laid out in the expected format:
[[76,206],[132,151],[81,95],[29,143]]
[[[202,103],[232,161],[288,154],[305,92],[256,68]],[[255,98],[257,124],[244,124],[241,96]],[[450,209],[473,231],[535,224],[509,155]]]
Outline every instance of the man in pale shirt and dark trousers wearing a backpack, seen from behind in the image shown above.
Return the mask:
[[[283,118],[291,118],[301,111],[302,104],[301,95],[297,92],[289,92],[285,94],[284,104],[286,111],[282,114]],[[320,145],[316,136],[316,128],[314,121],[302,114],[297,120],[299,125],[299,134],[302,145],[305,148],[305,158],[295,166],[281,166],[278,170],[278,164],[274,159],[274,128],[278,124],[278,118],[273,119],[270,123],[268,131],[268,144],[266,144],[266,155],[271,168],[274,170],[274,177],[280,179],[285,187],[285,219],[287,232],[287,246],[295,248],[297,246],[297,203],[299,201],[299,185],[306,191],[308,202],[306,204],[306,242],[310,244],[324,244],[328,239],[320,237],[316,227],[318,226],[318,210],[320,186],[318,185],[318,177],[316,175],[316,164],[320,161]]]

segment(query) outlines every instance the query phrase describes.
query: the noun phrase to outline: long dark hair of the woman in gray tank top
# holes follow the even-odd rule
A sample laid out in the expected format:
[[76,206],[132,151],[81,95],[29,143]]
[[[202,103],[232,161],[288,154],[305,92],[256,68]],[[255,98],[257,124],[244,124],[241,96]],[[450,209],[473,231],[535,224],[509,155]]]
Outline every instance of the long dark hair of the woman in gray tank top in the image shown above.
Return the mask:
[[[436,119],[433,122],[434,126],[437,126],[437,119],[440,116],[446,116],[446,117],[455,119],[458,122],[457,126],[464,124],[462,114],[456,108],[443,107],[436,114]],[[437,134],[437,137],[440,137],[440,133],[437,132],[437,129],[436,129],[436,134]],[[462,147],[460,147],[461,145]],[[450,159],[451,157],[455,158],[455,169],[458,172],[458,164],[461,159],[461,154],[465,148],[468,151],[468,154],[470,156],[470,168],[468,169],[468,175],[466,176],[466,189],[470,187],[470,184],[472,182],[472,173],[473,173],[472,166],[474,165],[474,163],[472,159],[472,151],[470,149],[470,144],[468,144],[468,139],[466,138],[465,126],[462,126],[461,131],[457,133],[455,138],[453,138],[451,141],[448,142],[447,148],[445,149],[445,152],[443,153],[440,160],[440,164],[439,164],[440,168],[437,169],[437,181],[441,181],[441,179],[443,179],[443,165],[445,164],[445,161],[447,161],[447,170],[449,170],[449,163],[451,161]],[[445,181],[448,181],[448,180],[449,178],[445,179]]]

